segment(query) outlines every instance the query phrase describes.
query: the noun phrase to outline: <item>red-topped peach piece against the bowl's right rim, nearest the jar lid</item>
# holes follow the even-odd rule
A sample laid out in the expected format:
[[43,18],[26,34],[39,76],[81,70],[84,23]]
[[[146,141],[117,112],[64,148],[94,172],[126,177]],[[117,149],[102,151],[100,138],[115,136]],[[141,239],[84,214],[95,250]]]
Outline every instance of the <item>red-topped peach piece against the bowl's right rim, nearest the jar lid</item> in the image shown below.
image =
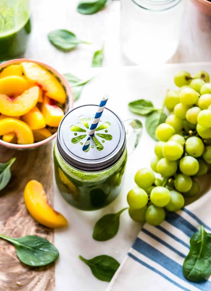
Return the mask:
[[63,110],[56,105],[56,101],[47,96],[44,96],[41,112],[45,118],[46,124],[53,127],[58,127],[64,116]]

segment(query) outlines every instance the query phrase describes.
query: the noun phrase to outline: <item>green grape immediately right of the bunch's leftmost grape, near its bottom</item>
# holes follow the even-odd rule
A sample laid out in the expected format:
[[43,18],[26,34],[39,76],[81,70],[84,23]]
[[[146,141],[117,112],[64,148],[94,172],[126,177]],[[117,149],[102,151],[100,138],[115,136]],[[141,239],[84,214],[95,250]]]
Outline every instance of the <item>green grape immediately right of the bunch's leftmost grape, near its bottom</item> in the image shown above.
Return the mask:
[[165,187],[157,186],[151,191],[150,200],[154,205],[158,207],[166,206],[169,203],[170,199],[170,191]]

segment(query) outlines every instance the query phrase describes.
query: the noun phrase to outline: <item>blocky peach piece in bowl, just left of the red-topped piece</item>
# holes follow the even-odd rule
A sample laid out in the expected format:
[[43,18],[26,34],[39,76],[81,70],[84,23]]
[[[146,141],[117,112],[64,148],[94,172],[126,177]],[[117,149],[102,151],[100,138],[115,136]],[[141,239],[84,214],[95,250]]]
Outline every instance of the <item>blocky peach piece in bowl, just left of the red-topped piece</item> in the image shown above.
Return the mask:
[[26,122],[31,129],[40,129],[46,126],[45,119],[37,106],[24,114],[22,120]]

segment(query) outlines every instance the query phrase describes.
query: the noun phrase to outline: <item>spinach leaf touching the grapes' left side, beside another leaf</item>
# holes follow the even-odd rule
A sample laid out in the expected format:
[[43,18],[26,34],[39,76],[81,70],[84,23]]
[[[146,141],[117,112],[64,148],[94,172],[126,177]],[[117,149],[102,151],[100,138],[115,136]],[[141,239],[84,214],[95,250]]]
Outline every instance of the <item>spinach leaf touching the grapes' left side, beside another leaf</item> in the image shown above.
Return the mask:
[[155,141],[158,140],[155,135],[155,130],[160,123],[165,122],[166,118],[167,115],[162,110],[154,111],[146,118],[146,130]]

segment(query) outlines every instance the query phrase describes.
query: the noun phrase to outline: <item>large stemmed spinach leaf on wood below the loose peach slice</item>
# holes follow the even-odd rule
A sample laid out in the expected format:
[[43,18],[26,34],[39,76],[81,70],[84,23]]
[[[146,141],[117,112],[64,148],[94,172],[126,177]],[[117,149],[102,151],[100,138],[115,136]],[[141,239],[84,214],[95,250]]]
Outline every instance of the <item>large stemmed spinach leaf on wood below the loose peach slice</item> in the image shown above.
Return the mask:
[[19,260],[28,266],[45,266],[58,258],[58,250],[42,237],[26,235],[12,238],[2,234],[0,234],[0,237],[15,246]]

